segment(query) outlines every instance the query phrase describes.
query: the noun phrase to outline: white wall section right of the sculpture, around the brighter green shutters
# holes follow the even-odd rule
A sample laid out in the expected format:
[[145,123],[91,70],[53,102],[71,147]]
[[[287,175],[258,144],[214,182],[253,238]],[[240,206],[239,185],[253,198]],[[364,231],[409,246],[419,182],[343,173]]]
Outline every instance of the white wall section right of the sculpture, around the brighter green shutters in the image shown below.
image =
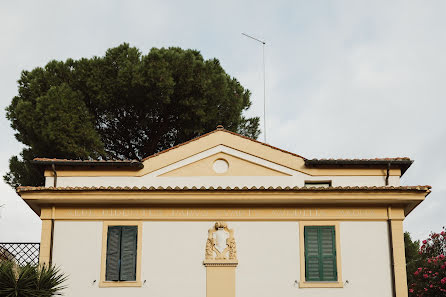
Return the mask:
[[298,288],[297,222],[234,222],[239,266],[236,296],[391,297],[386,222],[341,222],[344,288]]

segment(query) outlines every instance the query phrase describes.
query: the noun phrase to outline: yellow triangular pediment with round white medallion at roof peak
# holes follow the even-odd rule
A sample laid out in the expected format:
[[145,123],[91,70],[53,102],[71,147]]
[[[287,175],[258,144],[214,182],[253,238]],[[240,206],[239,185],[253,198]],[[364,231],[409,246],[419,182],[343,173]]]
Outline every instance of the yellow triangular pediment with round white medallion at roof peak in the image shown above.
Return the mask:
[[[219,171],[218,166],[228,169]],[[220,163],[220,165],[218,165]],[[223,164],[223,165],[222,165]],[[288,176],[302,171],[304,158],[227,131],[215,130],[144,159],[141,175],[154,176]]]

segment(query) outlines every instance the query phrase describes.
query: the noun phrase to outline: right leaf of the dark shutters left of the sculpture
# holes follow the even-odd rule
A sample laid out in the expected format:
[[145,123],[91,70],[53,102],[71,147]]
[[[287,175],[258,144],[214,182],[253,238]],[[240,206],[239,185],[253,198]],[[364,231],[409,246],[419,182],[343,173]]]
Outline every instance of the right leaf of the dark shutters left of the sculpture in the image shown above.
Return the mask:
[[121,237],[121,281],[136,280],[137,226],[123,226]]

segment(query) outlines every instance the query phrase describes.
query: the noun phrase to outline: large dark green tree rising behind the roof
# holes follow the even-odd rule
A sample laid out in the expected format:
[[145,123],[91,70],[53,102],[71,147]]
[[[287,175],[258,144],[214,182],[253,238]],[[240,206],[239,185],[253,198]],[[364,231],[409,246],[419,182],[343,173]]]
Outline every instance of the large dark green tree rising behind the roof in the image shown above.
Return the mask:
[[128,44],[103,57],[51,61],[23,71],[7,107],[16,138],[27,148],[12,157],[5,180],[40,185],[32,158],[142,159],[219,124],[257,138],[259,118],[245,118],[250,92],[217,59],[196,50]]

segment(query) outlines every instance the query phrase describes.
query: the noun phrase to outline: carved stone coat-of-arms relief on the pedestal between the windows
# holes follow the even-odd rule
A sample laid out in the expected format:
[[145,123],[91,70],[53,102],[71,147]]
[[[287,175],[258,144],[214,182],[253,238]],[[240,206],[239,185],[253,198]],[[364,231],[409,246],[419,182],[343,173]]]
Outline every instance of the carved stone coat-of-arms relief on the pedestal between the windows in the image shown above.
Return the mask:
[[208,230],[205,259],[237,261],[234,230],[229,229],[225,222],[216,222]]

